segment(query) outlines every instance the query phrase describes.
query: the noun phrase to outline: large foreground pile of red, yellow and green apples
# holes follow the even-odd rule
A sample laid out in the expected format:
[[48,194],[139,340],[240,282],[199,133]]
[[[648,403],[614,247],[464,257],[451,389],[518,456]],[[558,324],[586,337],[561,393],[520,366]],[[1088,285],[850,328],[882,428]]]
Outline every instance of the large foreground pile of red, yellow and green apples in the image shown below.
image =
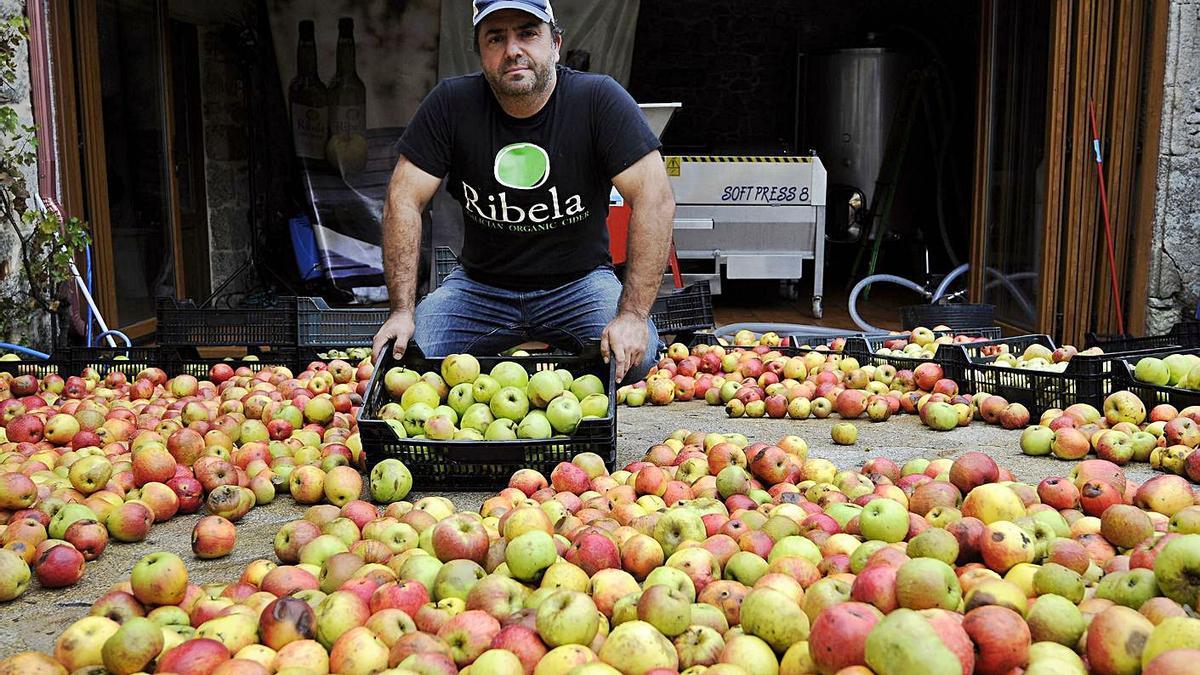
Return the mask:
[[978,452],[839,471],[679,430],[613,473],[518,471],[479,513],[312,507],[229,584],[154,554],[0,671],[1183,675],[1196,500],[1105,460],[1032,485]]

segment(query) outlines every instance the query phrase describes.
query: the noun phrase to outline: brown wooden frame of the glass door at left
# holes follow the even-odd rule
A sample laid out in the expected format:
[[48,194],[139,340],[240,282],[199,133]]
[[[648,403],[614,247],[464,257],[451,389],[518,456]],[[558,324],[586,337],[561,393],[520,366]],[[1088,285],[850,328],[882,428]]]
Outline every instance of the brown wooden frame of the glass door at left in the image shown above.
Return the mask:
[[[73,10],[72,10],[73,7]],[[167,195],[167,232],[174,256],[175,295],[186,291],[180,244],[179,185],[174,171],[174,115],[170,78],[169,11],[166,0],[156,0],[158,16],[160,72],[164,115],[163,180]],[[96,0],[49,0],[49,29],[54,50],[55,124],[61,159],[59,202],[67,213],[86,214],[92,235],[94,298],[110,328],[130,338],[155,331],[155,317],[116,325],[116,279],[113,255],[113,222],[108,208],[108,166],[104,148],[104,114],[101,97],[100,35]]]

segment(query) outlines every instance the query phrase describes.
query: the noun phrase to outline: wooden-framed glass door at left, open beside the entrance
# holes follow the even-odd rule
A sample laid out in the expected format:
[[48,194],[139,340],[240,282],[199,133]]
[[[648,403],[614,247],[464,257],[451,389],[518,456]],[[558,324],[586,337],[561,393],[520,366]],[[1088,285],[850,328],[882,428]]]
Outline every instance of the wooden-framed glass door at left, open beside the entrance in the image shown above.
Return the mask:
[[61,141],[60,201],[91,225],[109,327],[143,336],[156,298],[186,291],[166,2],[54,0],[50,12],[59,124],[77,141]]

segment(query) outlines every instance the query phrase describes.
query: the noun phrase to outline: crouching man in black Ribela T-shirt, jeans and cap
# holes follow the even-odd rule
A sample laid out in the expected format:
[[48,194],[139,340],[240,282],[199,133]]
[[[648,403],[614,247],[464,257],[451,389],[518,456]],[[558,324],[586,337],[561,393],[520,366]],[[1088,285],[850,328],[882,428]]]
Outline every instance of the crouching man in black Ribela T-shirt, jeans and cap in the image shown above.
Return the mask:
[[[442,82],[400,141],[383,216],[391,315],[374,353],[427,356],[600,339],[617,377],[658,357],[649,321],[674,215],[659,141],[612,78],[558,66],[548,0],[475,0],[480,73]],[[414,307],[421,211],[449,175],[462,268]],[[630,204],[625,286],[612,271],[611,187]]]

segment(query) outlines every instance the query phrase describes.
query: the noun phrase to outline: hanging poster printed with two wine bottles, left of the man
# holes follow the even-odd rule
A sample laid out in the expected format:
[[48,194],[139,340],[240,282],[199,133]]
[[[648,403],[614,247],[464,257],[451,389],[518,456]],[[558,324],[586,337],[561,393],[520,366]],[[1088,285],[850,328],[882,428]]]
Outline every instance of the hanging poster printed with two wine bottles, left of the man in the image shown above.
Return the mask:
[[310,202],[293,237],[311,227],[316,243],[301,275],[380,300],[388,179],[400,135],[437,83],[442,0],[269,0],[268,11]]

